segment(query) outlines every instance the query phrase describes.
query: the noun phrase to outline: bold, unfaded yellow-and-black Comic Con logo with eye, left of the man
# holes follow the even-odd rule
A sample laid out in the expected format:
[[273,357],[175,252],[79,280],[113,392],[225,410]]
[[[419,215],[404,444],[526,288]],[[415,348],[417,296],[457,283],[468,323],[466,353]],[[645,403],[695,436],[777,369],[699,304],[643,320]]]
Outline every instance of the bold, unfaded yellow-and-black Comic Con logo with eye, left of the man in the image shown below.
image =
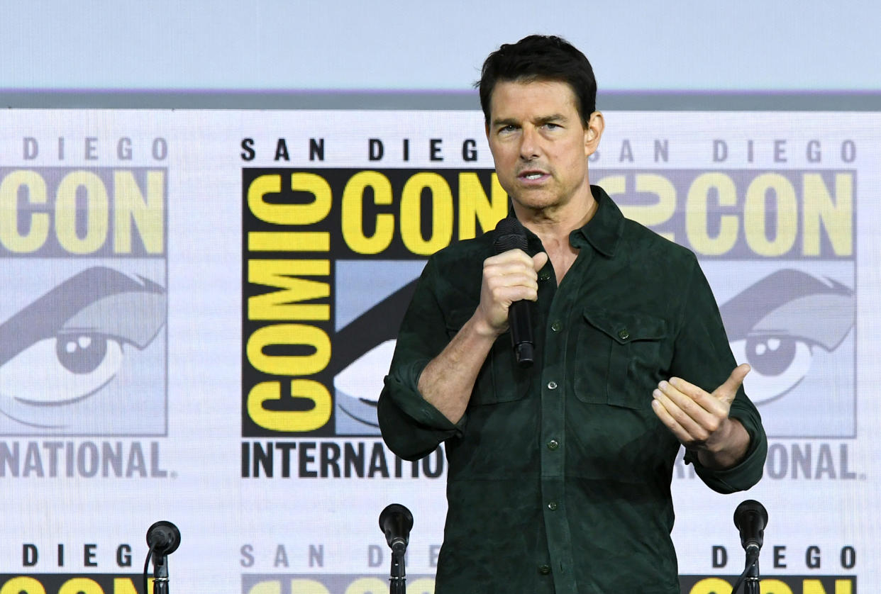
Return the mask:
[[488,171],[243,169],[242,436],[378,436],[426,258],[507,214]]

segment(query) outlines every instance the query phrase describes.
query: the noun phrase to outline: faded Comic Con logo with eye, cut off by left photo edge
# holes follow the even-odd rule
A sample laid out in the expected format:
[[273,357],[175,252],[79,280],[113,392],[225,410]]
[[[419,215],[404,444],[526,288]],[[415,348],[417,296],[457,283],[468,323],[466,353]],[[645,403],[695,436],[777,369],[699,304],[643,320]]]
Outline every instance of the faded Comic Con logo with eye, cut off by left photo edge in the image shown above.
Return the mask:
[[0,278],[0,434],[166,434],[164,169],[0,169]]

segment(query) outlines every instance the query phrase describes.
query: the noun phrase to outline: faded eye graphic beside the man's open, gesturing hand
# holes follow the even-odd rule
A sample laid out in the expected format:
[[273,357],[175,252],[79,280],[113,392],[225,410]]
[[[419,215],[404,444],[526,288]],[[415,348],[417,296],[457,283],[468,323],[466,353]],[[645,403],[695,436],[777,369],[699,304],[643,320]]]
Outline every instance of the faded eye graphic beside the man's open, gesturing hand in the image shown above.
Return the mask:
[[744,389],[769,436],[848,436],[855,430],[854,291],[785,268],[720,307]]

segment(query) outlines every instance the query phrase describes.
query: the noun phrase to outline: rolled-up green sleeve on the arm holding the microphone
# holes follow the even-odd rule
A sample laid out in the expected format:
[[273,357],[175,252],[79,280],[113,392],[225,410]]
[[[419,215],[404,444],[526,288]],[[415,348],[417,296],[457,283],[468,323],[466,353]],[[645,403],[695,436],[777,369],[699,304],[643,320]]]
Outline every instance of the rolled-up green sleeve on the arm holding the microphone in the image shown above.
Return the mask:
[[429,260],[403,317],[378,404],[383,441],[407,460],[423,458],[449,437],[461,436],[465,423],[465,417],[451,422],[418,391],[422,370],[449,341],[437,282],[433,260]]

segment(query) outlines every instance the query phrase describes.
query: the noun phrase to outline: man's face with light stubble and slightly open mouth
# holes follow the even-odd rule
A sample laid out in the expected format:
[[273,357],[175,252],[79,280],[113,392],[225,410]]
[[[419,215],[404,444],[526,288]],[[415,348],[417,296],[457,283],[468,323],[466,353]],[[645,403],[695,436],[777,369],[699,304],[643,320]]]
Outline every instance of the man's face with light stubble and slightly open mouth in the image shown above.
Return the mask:
[[575,105],[572,87],[559,81],[493,88],[486,136],[500,184],[515,205],[557,209],[574,197],[589,199],[588,157],[602,127],[585,128]]

